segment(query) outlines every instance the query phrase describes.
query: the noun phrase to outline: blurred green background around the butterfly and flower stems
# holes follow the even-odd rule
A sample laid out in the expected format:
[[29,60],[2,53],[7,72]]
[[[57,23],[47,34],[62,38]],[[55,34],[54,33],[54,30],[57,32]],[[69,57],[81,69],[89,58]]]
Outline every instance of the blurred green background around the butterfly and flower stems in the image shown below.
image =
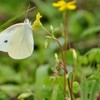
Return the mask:
[[[30,21],[34,22],[35,15],[39,11],[43,16],[41,19],[43,26],[50,30],[52,25],[55,36],[64,45],[63,17],[62,13],[52,6],[54,1],[57,0],[0,0],[0,31],[15,23],[23,22],[25,14],[21,14],[30,5],[30,8],[36,7],[27,14]],[[82,91],[82,95],[85,96],[87,95],[85,92],[95,91],[95,94],[100,92],[100,0],[77,0],[76,5],[75,11],[68,12],[68,27],[71,46],[76,49],[78,55],[75,80],[80,83],[80,92]],[[11,21],[6,23],[10,19]],[[35,49],[29,58],[13,60],[7,53],[0,52],[0,100],[17,100],[18,95],[27,89],[36,92],[37,96],[34,100],[43,100],[43,98],[50,100],[52,87],[43,89],[43,80],[53,74],[54,54],[59,52],[59,47],[55,41],[45,37],[46,33],[42,29],[33,31],[33,36]],[[47,41],[48,47],[45,48]],[[97,84],[94,80],[95,82],[98,80]],[[91,89],[95,86],[97,89]],[[75,95],[76,98],[80,98],[80,92]],[[61,93],[61,98],[62,95]],[[37,99],[38,96],[41,99]],[[31,96],[26,99],[33,100]]]

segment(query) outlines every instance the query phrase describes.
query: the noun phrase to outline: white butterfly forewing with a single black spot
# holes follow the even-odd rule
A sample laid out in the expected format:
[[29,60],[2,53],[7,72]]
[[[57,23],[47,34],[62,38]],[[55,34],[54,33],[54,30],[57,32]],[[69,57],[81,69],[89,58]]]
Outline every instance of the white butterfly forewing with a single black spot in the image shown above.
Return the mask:
[[0,33],[0,51],[7,52],[9,40],[23,23],[15,24]]

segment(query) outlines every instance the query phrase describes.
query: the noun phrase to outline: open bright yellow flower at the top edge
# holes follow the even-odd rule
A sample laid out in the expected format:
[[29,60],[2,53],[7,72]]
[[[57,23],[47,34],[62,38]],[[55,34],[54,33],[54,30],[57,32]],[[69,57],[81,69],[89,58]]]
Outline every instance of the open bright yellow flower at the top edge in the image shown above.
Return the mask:
[[76,0],[70,1],[70,2],[65,2],[64,0],[60,0],[57,3],[53,3],[54,7],[59,7],[59,11],[64,11],[64,10],[74,10],[76,9]]

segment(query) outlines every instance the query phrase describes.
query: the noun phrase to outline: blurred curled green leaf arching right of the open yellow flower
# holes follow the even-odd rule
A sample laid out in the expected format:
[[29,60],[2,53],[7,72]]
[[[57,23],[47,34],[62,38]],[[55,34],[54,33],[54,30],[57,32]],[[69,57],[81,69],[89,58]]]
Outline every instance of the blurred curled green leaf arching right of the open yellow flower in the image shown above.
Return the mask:
[[[87,24],[87,27],[94,25],[93,15],[85,10],[79,10],[74,13],[74,15],[69,20],[69,31],[72,33],[74,38],[79,39],[80,33],[83,30],[87,29],[84,27],[84,23]],[[76,36],[76,37],[75,37]]]

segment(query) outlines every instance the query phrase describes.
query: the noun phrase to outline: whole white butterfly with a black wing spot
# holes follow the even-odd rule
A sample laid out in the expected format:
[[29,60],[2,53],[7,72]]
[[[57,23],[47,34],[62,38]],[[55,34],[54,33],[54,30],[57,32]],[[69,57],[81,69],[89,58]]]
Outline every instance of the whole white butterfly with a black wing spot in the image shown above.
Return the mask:
[[0,51],[8,52],[13,59],[27,58],[32,54],[33,49],[32,26],[28,19],[0,33]]

